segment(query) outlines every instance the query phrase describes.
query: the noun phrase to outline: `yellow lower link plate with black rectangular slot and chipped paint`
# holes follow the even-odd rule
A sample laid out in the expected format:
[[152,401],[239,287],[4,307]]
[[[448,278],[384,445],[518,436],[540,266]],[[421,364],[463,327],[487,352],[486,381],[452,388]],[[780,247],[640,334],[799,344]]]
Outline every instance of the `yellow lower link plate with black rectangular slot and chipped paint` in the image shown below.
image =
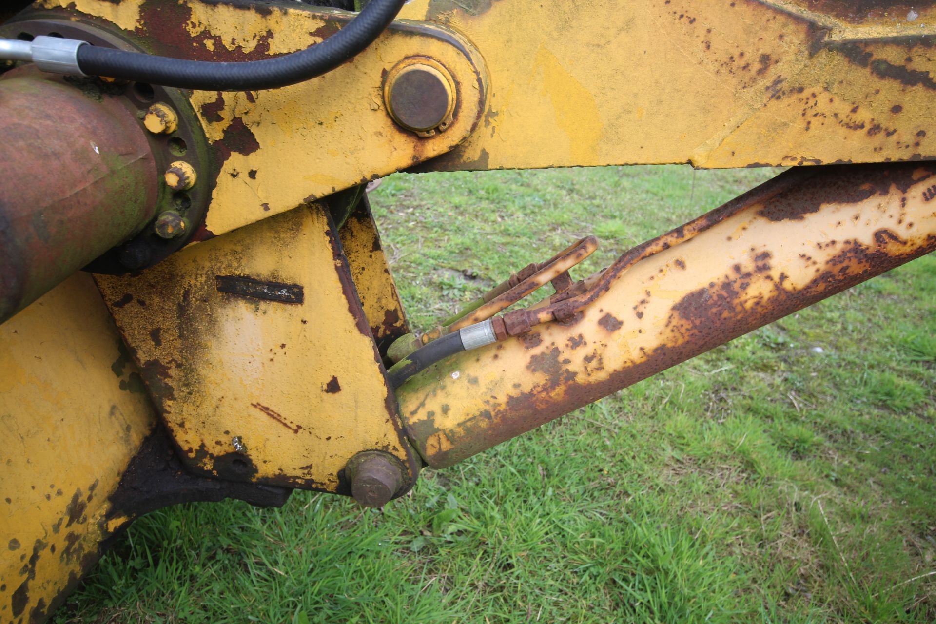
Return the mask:
[[[335,491],[359,451],[408,461],[334,246],[325,212],[312,205],[189,247],[139,275],[96,276],[190,466]],[[215,276],[293,284],[304,297],[219,292]]]

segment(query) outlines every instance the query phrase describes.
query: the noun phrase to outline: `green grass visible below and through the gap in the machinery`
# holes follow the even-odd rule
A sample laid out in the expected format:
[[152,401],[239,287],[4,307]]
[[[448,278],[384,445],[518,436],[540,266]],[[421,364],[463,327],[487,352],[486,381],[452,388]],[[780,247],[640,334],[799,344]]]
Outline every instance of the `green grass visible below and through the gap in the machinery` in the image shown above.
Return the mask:
[[[771,173],[398,175],[372,200],[425,328],[580,236],[606,266]],[[297,492],[144,517],[57,621],[932,622],[934,381],[925,257],[383,511]]]

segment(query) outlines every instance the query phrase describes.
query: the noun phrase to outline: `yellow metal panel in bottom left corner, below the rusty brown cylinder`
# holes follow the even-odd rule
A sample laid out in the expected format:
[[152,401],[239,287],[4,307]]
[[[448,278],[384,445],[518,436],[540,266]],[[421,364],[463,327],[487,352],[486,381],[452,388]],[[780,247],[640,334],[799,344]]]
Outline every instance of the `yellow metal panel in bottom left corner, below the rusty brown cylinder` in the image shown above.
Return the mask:
[[155,415],[118,344],[86,273],[0,326],[0,621],[41,620],[123,524],[108,497]]

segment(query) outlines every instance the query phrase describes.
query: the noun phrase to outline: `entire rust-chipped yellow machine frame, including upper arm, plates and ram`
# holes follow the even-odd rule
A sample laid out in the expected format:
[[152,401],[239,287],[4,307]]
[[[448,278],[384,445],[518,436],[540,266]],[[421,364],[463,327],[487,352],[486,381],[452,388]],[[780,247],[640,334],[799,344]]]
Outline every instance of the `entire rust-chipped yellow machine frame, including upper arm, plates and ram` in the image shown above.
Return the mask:
[[[414,0],[317,79],[167,91],[176,99],[146,124],[156,111],[140,109],[151,140],[188,128],[197,145],[174,177],[160,172],[159,193],[200,189],[204,215],[161,217],[187,237],[166,260],[76,273],[0,327],[0,620],[43,621],[159,506],[282,504],[294,487],[360,498],[358,486],[382,503],[422,465],[450,466],[932,251],[936,7],[868,4]],[[67,26],[235,62],[308,48],[351,18],[295,3],[39,0],[0,31]],[[409,123],[422,105],[394,90],[409,71],[446,94],[431,127]],[[27,74],[10,69],[0,94],[15,76]],[[95,102],[122,96],[108,84],[95,82]],[[393,387],[393,362],[445,332],[410,335],[364,184],[661,163],[797,168],[591,278],[572,280],[574,262],[537,274],[555,289],[538,304],[520,299],[549,263],[521,271],[490,297],[522,291],[515,309],[471,317],[491,321],[494,343]]]

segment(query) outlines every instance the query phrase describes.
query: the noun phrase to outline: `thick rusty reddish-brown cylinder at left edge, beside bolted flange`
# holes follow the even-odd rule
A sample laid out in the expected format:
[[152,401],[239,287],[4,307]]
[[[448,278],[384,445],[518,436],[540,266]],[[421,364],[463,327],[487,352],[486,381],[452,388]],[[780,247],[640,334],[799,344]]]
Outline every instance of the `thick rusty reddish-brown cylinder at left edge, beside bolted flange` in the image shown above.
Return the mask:
[[31,67],[0,80],[0,171],[0,323],[154,214],[154,156],[133,112]]

